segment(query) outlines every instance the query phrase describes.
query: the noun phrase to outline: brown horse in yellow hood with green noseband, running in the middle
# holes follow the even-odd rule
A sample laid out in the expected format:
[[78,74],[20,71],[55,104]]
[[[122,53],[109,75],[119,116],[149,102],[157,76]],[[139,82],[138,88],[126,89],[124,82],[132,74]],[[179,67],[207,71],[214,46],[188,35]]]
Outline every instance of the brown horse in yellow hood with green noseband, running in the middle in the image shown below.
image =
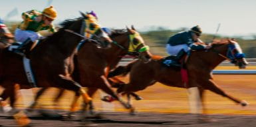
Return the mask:
[[[144,40],[133,26],[132,29],[127,27],[126,30],[113,30],[110,37],[116,43],[112,43],[109,49],[99,49],[95,45],[92,45],[92,43],[82,43],[79,46],[78,53],[74,59],[75,69],[72,77],[74,80],[78,81],[81,86],[88,88],[87,92],[90,97],[93,97],[96,90],[100,88],[107,94],[110,94],[114,99],[120,101],[124,107],[130,108],[131,106],[126,106],[122,98],[116,95],[110,88],[110,83],[106,76],[108,75],[108,71],[116,67],[124,55],[136,55],[140,61],[147,63],[151,59],[151,54],[148,51],[148,46],[144,44]],[[42,94],[42,90],[38,93]],[[61,90],[57,98],[55,98],[55,103],[58,102],[61,94],[63,94],[63,90]],[[78,97],[79,94],[74,96],[70,114],[74,112]],[[37,98],[38,96],[36,99]],[[35,102],[37,102],[37,100],[35,100]],[[31,108],[33,106],[35,106],[35,104],[33,104]],[[84,109],[86,109],[86,106],[87,105],[84,106]],[[89,106],[90,113],[93,114],[91,102]],[[133,110],[132,108],[130,109]]]

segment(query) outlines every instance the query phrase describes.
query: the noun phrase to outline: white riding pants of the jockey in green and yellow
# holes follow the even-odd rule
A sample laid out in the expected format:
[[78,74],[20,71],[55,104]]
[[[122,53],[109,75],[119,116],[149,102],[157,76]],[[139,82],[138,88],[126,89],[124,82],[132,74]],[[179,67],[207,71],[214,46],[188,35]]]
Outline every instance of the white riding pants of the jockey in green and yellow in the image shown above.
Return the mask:
[[21,29],[15,30],[15,39],[20,43],[25,42],[27,39],[31,39],[31,41],[35,42],[41,38],[42,36],[34,31],[23,31]]

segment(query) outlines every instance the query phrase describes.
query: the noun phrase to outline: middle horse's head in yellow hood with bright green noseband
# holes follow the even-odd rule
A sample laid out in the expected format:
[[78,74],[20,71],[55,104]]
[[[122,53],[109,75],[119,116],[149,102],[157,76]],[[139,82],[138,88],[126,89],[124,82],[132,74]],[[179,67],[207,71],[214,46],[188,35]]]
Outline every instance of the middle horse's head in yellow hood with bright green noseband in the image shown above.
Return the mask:
[[151,53],[149,52],[149,47],[145,45],[144,39],[140,36],[140,34],[134,29],[129,29],[126,27],[129,34],[129,46],[128,46],[128,54],[130,55],[138,55],[139,59],[142,59],[144,63],[148,63],[151,60]]

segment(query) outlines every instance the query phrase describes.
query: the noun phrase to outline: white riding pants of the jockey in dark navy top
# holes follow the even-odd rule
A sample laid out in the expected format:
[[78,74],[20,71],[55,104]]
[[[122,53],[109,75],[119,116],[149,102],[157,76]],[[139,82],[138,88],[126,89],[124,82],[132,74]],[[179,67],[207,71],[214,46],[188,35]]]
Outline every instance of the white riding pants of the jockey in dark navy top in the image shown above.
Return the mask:
[[188,53],[188,51],[190,51],[190,47],[188,47],[188,45],[186,45],[186,44],[175,45],[175,46],[172,46],[170,44],[166,45],[166,51],[171,56],[176,56],[182,49],[186,53]]

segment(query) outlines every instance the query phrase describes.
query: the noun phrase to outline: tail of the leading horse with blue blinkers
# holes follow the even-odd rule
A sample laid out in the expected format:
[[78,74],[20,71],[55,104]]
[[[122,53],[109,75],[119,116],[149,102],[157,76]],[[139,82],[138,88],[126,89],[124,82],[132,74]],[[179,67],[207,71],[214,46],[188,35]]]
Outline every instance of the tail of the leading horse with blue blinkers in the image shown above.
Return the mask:
[[136,61],[129,63],[126,66],[118,66],[116,69],[109,72],[108,78],[111,78],[113,76],[118,76],[120,74],[122,74],[123,76],[126,76],[126,74],[128,74],[128,72],[130,72],[134,63],[136,63]]

